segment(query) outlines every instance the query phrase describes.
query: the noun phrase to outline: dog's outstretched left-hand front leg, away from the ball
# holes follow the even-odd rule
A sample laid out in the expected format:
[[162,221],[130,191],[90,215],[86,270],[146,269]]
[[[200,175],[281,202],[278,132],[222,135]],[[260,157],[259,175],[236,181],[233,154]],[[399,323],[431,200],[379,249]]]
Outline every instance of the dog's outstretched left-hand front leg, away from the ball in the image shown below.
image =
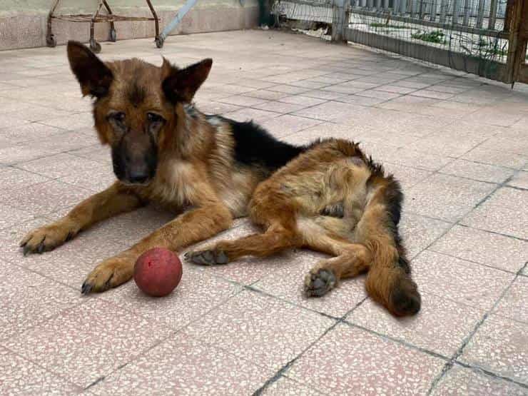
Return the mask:
[[114,183],[101,193],[86,198],[64,218],[44,227],[31,230],[20,246],[27,253],[52,250],[101,220],[125,213],[141,206],[141,200],[121,183]]

